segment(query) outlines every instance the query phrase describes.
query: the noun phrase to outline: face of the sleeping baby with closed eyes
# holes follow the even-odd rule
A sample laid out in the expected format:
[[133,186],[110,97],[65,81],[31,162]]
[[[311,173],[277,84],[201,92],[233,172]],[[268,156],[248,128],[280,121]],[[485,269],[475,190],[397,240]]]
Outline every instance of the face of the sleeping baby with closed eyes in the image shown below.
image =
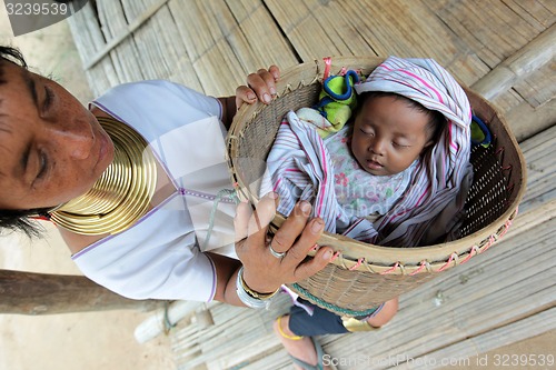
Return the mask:
[[407,169],[433,143],[428,117],[401,99],[367,99],[355,119],[351,151],[359,164],[375,176]]

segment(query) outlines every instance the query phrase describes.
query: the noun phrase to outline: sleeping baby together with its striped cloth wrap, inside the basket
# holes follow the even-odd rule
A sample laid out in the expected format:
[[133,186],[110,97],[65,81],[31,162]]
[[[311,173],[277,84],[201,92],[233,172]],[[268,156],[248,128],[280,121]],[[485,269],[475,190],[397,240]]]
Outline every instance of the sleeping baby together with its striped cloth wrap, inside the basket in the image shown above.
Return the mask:
[[461,87],[431,59],[389,57],[354,89],[354,124],[324,140],[286,116],[264,187],[280,194],[278,211],[306,199],[327,231],[386,246],[454,238],[473,178]]

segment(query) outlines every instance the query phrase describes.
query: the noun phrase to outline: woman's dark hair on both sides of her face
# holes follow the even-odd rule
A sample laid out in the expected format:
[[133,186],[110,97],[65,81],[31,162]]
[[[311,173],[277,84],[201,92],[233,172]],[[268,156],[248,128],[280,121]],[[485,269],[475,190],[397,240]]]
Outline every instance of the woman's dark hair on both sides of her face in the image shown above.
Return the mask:
[[[13,63],[27,69],[27,62],[21,51],[11,47],[0,46],[0,84],[6,83],[3,79],[6,63]],[[0,231],[23,231],[27,236],[39,236],[40,229],[31,217],[48,217],[48,209],[31,210],[0,210]]]

